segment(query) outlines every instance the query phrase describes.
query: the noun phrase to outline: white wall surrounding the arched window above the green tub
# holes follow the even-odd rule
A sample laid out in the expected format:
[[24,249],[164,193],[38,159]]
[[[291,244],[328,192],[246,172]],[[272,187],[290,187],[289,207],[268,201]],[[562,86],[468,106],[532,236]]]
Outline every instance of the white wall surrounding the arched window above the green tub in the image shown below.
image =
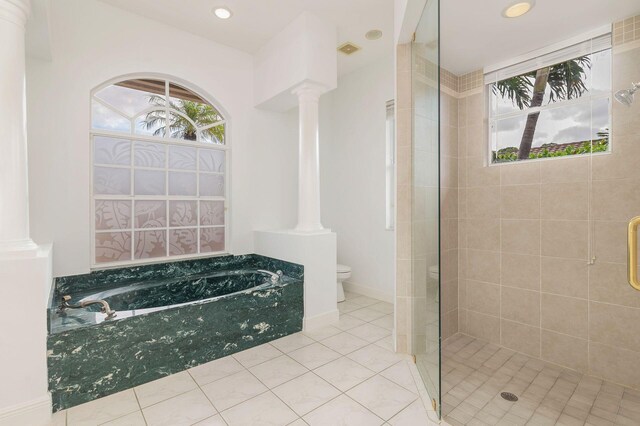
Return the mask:
[[90,267],[90,91],[153,72],[202,89],[231,121],[231,241],[253,251],[255,228],[295,224],[297,116],[253,105],[252,57],[96,0],[56,0],[51,62],[27,63],[31,234],[54,243],[54,275]]

